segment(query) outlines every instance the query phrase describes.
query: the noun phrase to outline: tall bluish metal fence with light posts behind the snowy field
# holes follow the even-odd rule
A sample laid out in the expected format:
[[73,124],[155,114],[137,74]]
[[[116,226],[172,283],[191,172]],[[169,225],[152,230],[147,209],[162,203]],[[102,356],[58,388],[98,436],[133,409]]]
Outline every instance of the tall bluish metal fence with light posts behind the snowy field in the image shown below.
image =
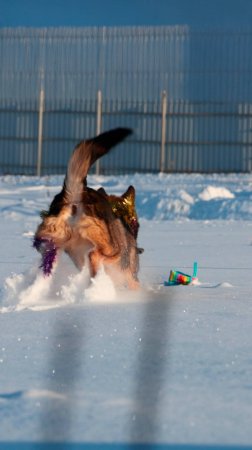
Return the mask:
[[134,134],[101,173],[251,171],[251,48],[252,30],[2,29],[0,171],[63,173],[116,126]]

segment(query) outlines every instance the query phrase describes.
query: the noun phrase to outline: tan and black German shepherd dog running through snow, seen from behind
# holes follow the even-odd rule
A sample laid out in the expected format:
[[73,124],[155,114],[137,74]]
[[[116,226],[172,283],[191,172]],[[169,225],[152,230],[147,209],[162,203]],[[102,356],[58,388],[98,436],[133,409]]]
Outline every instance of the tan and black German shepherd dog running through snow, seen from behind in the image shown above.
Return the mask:
[[75,147],[62,190],[49,210],[42,211],[34,237],[45,275],[51,274],[57,254],[64,251],[79,270],[88,261],[91,277],[103,265],[115,281],[130,289],[139,287],[139,223],[133,186],[121,197],[87,186],[90,166],[131,133],[128,128],[116,128]]

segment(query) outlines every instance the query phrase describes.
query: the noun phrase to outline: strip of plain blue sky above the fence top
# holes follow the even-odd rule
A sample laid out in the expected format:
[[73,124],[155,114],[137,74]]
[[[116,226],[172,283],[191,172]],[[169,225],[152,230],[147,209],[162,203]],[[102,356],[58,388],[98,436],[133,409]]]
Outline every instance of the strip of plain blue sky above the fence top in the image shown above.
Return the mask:
[[0,26],[252,25],[252,0],[0,0]]

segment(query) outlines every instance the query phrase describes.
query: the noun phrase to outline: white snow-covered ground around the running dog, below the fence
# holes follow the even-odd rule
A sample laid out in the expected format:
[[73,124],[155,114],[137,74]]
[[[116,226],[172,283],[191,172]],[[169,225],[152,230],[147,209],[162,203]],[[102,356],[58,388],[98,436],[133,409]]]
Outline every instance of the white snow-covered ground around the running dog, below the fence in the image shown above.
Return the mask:
[[[136,187],[138,293],[66,257],[43,278],[62,180],[0,178],[0,441],[252,445],[252,175],[89,177]],[[194,261],[197,284],[163,286]]]

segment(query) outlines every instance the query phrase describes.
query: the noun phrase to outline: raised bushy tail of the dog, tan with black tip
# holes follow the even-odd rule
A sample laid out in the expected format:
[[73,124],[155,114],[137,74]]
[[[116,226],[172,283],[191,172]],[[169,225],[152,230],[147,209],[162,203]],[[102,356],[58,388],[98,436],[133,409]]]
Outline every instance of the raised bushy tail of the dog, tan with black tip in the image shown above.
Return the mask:
[[86,185],[89,168],[119,142],[132,133],[129,128],[115,128],[92,139],[81,141],[70,158],[64,181],[68,202],[78,202]]

